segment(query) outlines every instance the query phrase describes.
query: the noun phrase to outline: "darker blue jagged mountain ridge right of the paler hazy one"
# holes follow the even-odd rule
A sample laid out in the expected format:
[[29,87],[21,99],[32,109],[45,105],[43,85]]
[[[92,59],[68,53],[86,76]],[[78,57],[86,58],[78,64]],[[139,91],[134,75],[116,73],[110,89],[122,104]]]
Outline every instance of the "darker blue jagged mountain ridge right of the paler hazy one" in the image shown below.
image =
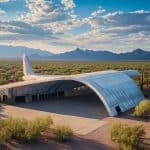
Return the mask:
[[106,50],[83,50],[76,48],[73,51],[56,54],[50,57],[54,60],[86,60],[86,61],[120,61],[120,60],[150,60],[150,52],[136,49],[132,52],[116,54]]

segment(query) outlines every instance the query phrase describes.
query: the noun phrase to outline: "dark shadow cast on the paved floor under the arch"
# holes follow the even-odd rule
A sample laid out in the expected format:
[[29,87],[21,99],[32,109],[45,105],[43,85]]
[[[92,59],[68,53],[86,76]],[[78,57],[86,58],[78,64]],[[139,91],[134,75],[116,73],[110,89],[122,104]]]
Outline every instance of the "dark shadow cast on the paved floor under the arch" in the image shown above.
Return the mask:
[[17,107],[84,118],[102,119],[107,111],[95,95],[76,96],[16,104]]

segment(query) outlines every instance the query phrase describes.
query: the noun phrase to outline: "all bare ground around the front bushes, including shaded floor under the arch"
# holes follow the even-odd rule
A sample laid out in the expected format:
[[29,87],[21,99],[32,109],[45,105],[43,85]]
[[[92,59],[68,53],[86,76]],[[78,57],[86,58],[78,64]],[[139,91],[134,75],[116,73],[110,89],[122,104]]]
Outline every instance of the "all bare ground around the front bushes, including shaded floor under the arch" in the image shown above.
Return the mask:
[[[92,100],[92,101],[91,101]],[[118,145],[109,136],[112,123],[116,120],[129,125],[142,124],[145,128],[145,143],[150,145],[150,122],[131,115],[133,110],[118,117],[108,117],[103,105],[95,97],[55,100],[17,106],[1,105],[1,117],[12,115],[32,119],[51,115],[54,122],[68,124],[75,135],[71,141],[57,142],[49,133],[33,144],[7,143],[10,150],[116,150]]]

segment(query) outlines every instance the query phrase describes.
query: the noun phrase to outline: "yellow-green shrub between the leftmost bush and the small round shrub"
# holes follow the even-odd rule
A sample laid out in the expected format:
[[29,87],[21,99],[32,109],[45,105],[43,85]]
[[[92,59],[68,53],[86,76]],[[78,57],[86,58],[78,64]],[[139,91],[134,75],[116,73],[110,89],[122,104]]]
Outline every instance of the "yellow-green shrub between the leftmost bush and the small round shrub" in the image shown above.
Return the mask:
[[51,117],[36,118],[35,120],[28,122],[25,128],[24,141],[32,142],[37,140],[41,133],[46,131],[52,124],[53,121]]

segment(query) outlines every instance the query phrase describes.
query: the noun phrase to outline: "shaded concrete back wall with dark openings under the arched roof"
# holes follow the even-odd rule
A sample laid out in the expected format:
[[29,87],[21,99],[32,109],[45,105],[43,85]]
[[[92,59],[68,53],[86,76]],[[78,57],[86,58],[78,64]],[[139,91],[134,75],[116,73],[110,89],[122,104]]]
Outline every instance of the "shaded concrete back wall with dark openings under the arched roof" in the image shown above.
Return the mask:
[[[17,101],[31,102],[45,100],[51,97],[77,96],[92,92],[88,87],[75,81],[52,81],[28,84],[0,90],[1,102],[15,103]],[[4,95],[7,100],[4,100]]]

